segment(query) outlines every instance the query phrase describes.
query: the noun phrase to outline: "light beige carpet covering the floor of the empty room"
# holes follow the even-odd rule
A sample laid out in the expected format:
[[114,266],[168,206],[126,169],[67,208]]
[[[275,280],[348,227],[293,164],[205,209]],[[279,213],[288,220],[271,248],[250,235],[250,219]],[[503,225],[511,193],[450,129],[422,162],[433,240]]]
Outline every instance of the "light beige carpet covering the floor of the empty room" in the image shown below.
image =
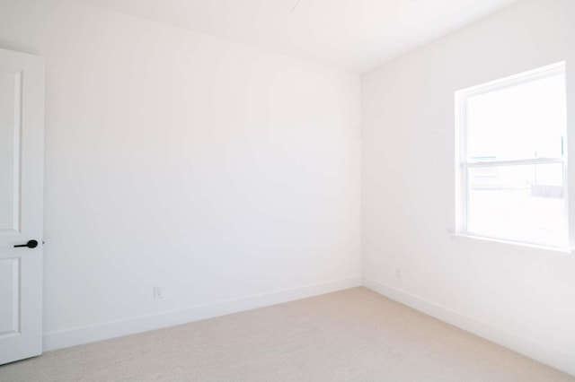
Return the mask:
[[364,288],[47,352],[1,381],[575,381]]

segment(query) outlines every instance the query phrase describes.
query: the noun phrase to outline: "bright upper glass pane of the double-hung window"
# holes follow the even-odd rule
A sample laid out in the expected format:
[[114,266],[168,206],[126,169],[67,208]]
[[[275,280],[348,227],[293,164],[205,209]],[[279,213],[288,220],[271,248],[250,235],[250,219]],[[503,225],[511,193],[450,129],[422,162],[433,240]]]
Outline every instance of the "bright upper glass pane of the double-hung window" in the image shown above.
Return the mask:
[[565,74],[470,95],[467,160],[561,157],[566,142]]

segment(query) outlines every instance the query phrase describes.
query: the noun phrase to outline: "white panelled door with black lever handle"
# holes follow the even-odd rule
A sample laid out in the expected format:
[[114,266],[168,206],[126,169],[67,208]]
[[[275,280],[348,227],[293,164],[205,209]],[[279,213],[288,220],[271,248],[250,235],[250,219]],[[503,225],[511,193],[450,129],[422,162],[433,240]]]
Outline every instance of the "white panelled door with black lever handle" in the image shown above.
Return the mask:
[[43,60],[0,49],[0,364],[42,352],[43,167]]

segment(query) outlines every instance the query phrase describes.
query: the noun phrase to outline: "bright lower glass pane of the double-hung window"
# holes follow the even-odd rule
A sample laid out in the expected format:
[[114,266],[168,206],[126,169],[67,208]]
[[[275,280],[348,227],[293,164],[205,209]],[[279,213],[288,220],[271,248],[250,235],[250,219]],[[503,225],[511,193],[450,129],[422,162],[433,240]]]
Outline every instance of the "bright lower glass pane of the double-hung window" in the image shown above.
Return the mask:
[[567,247],[562,163],[468,170],[467,231]]

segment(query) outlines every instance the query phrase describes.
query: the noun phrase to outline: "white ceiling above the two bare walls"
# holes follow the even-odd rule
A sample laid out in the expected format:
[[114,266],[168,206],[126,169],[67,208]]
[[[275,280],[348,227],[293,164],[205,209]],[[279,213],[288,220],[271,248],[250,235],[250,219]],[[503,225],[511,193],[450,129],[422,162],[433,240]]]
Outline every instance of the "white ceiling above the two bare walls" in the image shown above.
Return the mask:
[[81,0],[365,72],[517,0]]

